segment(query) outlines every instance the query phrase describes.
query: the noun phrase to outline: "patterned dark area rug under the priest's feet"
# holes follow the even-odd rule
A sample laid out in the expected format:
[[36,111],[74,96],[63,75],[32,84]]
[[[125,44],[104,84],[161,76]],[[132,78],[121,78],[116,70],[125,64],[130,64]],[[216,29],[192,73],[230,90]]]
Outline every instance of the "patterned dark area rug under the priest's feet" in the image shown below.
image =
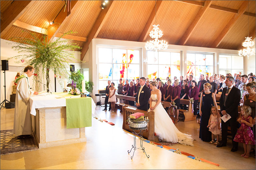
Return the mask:
[[0,131],[0,155],[38,150],[33,135],[30,138],[18,139],[11,130]]

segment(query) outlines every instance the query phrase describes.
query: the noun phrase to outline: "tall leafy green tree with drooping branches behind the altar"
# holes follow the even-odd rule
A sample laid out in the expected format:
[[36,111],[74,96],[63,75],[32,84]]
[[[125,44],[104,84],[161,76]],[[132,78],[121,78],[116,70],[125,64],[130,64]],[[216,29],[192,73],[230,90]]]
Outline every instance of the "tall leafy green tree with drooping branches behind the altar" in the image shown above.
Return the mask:
[[[42,34],[41,37],[36,36],[35,33],[23,30],[22,32],[27,32],[31,37],[12,37],[9,44],[14,44],[12,49],[18,51],[18,53],[23,53],[11,57],[14,58],[16,63],[23,60],[24,65],[32,65],[35,68],[34,80],[41,80],[45,75],[46,86],[49,89],[50,77],[49,72],[53,70],[58,82],[62,86],[61,78],[68,77],[67,66],[69,62],[72,62],[74,57],[75,49],[81,49],[76,43],[69,43],[69,40],[63,39],[62,37],[68,34],[73,34],[76,32],[68,31],[62,36],[58,37],[55,41],[48,41],[47,35]],[[35,82],[35,81],[34,81]]]

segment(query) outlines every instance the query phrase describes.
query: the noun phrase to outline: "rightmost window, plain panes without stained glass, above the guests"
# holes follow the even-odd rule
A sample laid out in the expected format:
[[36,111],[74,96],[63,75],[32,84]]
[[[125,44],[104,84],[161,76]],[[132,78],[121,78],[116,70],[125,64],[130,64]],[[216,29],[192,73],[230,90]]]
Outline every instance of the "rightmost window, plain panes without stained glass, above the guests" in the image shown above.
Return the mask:
[[235,55],[219,55],[219,74],[226,75],[227,73],[243,75],[244,58],[243,56]]

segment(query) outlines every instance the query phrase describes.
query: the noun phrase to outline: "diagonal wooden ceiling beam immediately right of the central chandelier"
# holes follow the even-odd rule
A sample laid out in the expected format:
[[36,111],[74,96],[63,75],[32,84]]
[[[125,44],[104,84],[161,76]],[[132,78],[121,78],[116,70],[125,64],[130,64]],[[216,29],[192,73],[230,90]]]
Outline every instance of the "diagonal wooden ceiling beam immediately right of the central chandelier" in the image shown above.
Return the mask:
[[188,41],[188,38],[191,36],[193,30],[196,28],[196,25],[199,23],[199,21],[202,19],[203,15],[205,14],[206,10],[210,7],[212,1],[205,1],[203,7],[197,12],[196,16],[186,29],[183,36],[181,36],[181,39],[178,42],[178,45],[185,45]]

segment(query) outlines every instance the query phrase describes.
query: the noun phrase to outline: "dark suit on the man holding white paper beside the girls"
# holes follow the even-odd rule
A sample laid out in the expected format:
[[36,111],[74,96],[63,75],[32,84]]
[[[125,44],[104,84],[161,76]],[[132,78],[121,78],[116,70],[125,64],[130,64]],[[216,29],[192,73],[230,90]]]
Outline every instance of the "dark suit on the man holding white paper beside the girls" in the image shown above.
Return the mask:
[[220,96],[220,100],[219,100],[220,111],[225,110],[231,116],[231,118],[226,122],[221,120],[221,133],[222,133],[221,142],[223,144],[227,143],[227,131],[228,131],[228,125],[230,125],[233,147],[238,147],[238,142],[233,141],[233,139],[237,133],[238,105],[240,101],[241,92],[238,88],[233,86],[233,88],[231,88],[226,98],[226,103],[224,106],[224,99],[225,99],[225,94],[227,93],[227,89],[228,87],[223,88],[222,94]]

